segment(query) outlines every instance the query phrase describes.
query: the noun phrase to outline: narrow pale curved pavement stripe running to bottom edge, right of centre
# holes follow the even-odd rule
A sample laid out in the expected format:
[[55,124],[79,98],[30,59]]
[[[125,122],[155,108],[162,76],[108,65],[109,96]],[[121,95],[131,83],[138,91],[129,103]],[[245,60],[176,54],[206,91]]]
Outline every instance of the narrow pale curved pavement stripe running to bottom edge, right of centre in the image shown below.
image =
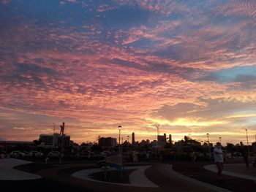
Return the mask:
[[209,189],[211,189],[211,190],[213,190],[213,191],[218,191],[218,192],[232,192],[232,191],[227,190],[227,189],[225,189],[225,188],[219,188],[219,187],[217,187],[216,185],[211,185],[211,184],[208,184],[208,183],[204,183],[204,182],[202,182],[202,181],[200,181],[200,180],[195,180],[195,179],[193,179],[193,178],[191,178],[191,177],[185,176],[184,174],[180,174],[180,173],[178,173],[178,172],[176,172],[176,171],[173,170],[173,165],[170,165],[170,172],[171,172],[172,174],[176,175],[176,177],[179,177],[179,178],[181,178],[181,179],[187,180],[187,181],[189,181],[189,182],[191,182],[191,183],[195,183],[195,184],[197,184],[197,185],[201,185],[201,186],[203,186],[203,187],[205,187],[205,188],[209,188]]

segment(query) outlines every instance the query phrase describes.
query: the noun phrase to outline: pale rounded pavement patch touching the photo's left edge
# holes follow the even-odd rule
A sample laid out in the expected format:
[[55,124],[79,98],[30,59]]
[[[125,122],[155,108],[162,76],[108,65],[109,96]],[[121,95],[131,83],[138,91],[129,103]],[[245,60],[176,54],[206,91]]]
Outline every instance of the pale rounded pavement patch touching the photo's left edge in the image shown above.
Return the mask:
[[23,161],[15,158],[2,158],[0,161],[0,180],[37,180],[41,179],[37,174],[22,172],[13,169],[15,166],[30,164],[29,161]]

